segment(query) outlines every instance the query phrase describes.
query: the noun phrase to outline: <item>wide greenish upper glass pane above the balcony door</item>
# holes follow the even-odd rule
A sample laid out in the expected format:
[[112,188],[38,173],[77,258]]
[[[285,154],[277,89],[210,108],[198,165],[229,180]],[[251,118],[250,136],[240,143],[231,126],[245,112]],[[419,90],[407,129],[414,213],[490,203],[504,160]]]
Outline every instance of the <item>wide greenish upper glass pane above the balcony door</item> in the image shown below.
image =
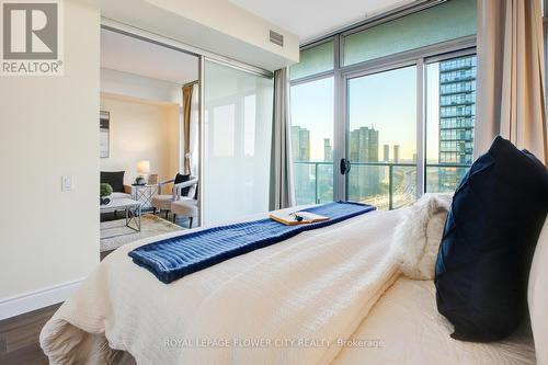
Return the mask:
[[476,34],[476,0],[449,0],[344,37],[343,64],[353,65]]

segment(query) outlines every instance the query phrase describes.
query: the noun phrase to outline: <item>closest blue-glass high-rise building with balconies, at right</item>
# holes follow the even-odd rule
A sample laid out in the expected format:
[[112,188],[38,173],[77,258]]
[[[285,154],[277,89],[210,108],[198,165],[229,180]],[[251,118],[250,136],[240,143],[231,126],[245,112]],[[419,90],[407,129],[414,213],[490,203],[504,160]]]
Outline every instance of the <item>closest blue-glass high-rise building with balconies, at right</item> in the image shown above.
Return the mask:
[[[439,163],[472,162],[476,118],[476,56],[439,62]],[[460,175],[455,168],[441,168],[439,187],[454,187]]]

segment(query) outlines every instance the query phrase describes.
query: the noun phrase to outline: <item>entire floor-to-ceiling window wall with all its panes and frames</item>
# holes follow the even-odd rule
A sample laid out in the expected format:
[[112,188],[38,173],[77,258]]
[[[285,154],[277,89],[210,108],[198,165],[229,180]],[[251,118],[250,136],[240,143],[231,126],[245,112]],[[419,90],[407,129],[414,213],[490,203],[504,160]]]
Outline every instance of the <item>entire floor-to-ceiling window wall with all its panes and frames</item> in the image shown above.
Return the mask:
[[[424,192],[453,191],[468,170],[476,0],[420,9],[301,49],[290,68],[298,204],[349,199],[391,209]],[[341,172],[343,159],[351,169]]]

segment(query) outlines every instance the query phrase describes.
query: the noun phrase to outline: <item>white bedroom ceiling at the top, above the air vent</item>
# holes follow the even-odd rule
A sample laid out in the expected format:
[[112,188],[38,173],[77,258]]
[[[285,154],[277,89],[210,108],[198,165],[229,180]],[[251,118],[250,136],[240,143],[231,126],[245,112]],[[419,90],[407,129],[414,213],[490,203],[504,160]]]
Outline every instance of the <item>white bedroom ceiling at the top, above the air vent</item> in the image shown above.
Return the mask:
[[300,43],[416,0],[229,0],[296,34]]

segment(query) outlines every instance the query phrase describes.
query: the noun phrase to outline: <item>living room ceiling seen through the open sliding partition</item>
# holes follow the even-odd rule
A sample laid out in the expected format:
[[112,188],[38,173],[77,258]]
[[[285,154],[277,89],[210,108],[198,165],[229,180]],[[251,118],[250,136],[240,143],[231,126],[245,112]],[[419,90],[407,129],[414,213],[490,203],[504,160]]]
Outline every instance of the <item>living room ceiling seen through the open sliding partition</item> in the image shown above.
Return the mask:
[[101,67],[183,84],[198,79],[196,56],[101,30]]

